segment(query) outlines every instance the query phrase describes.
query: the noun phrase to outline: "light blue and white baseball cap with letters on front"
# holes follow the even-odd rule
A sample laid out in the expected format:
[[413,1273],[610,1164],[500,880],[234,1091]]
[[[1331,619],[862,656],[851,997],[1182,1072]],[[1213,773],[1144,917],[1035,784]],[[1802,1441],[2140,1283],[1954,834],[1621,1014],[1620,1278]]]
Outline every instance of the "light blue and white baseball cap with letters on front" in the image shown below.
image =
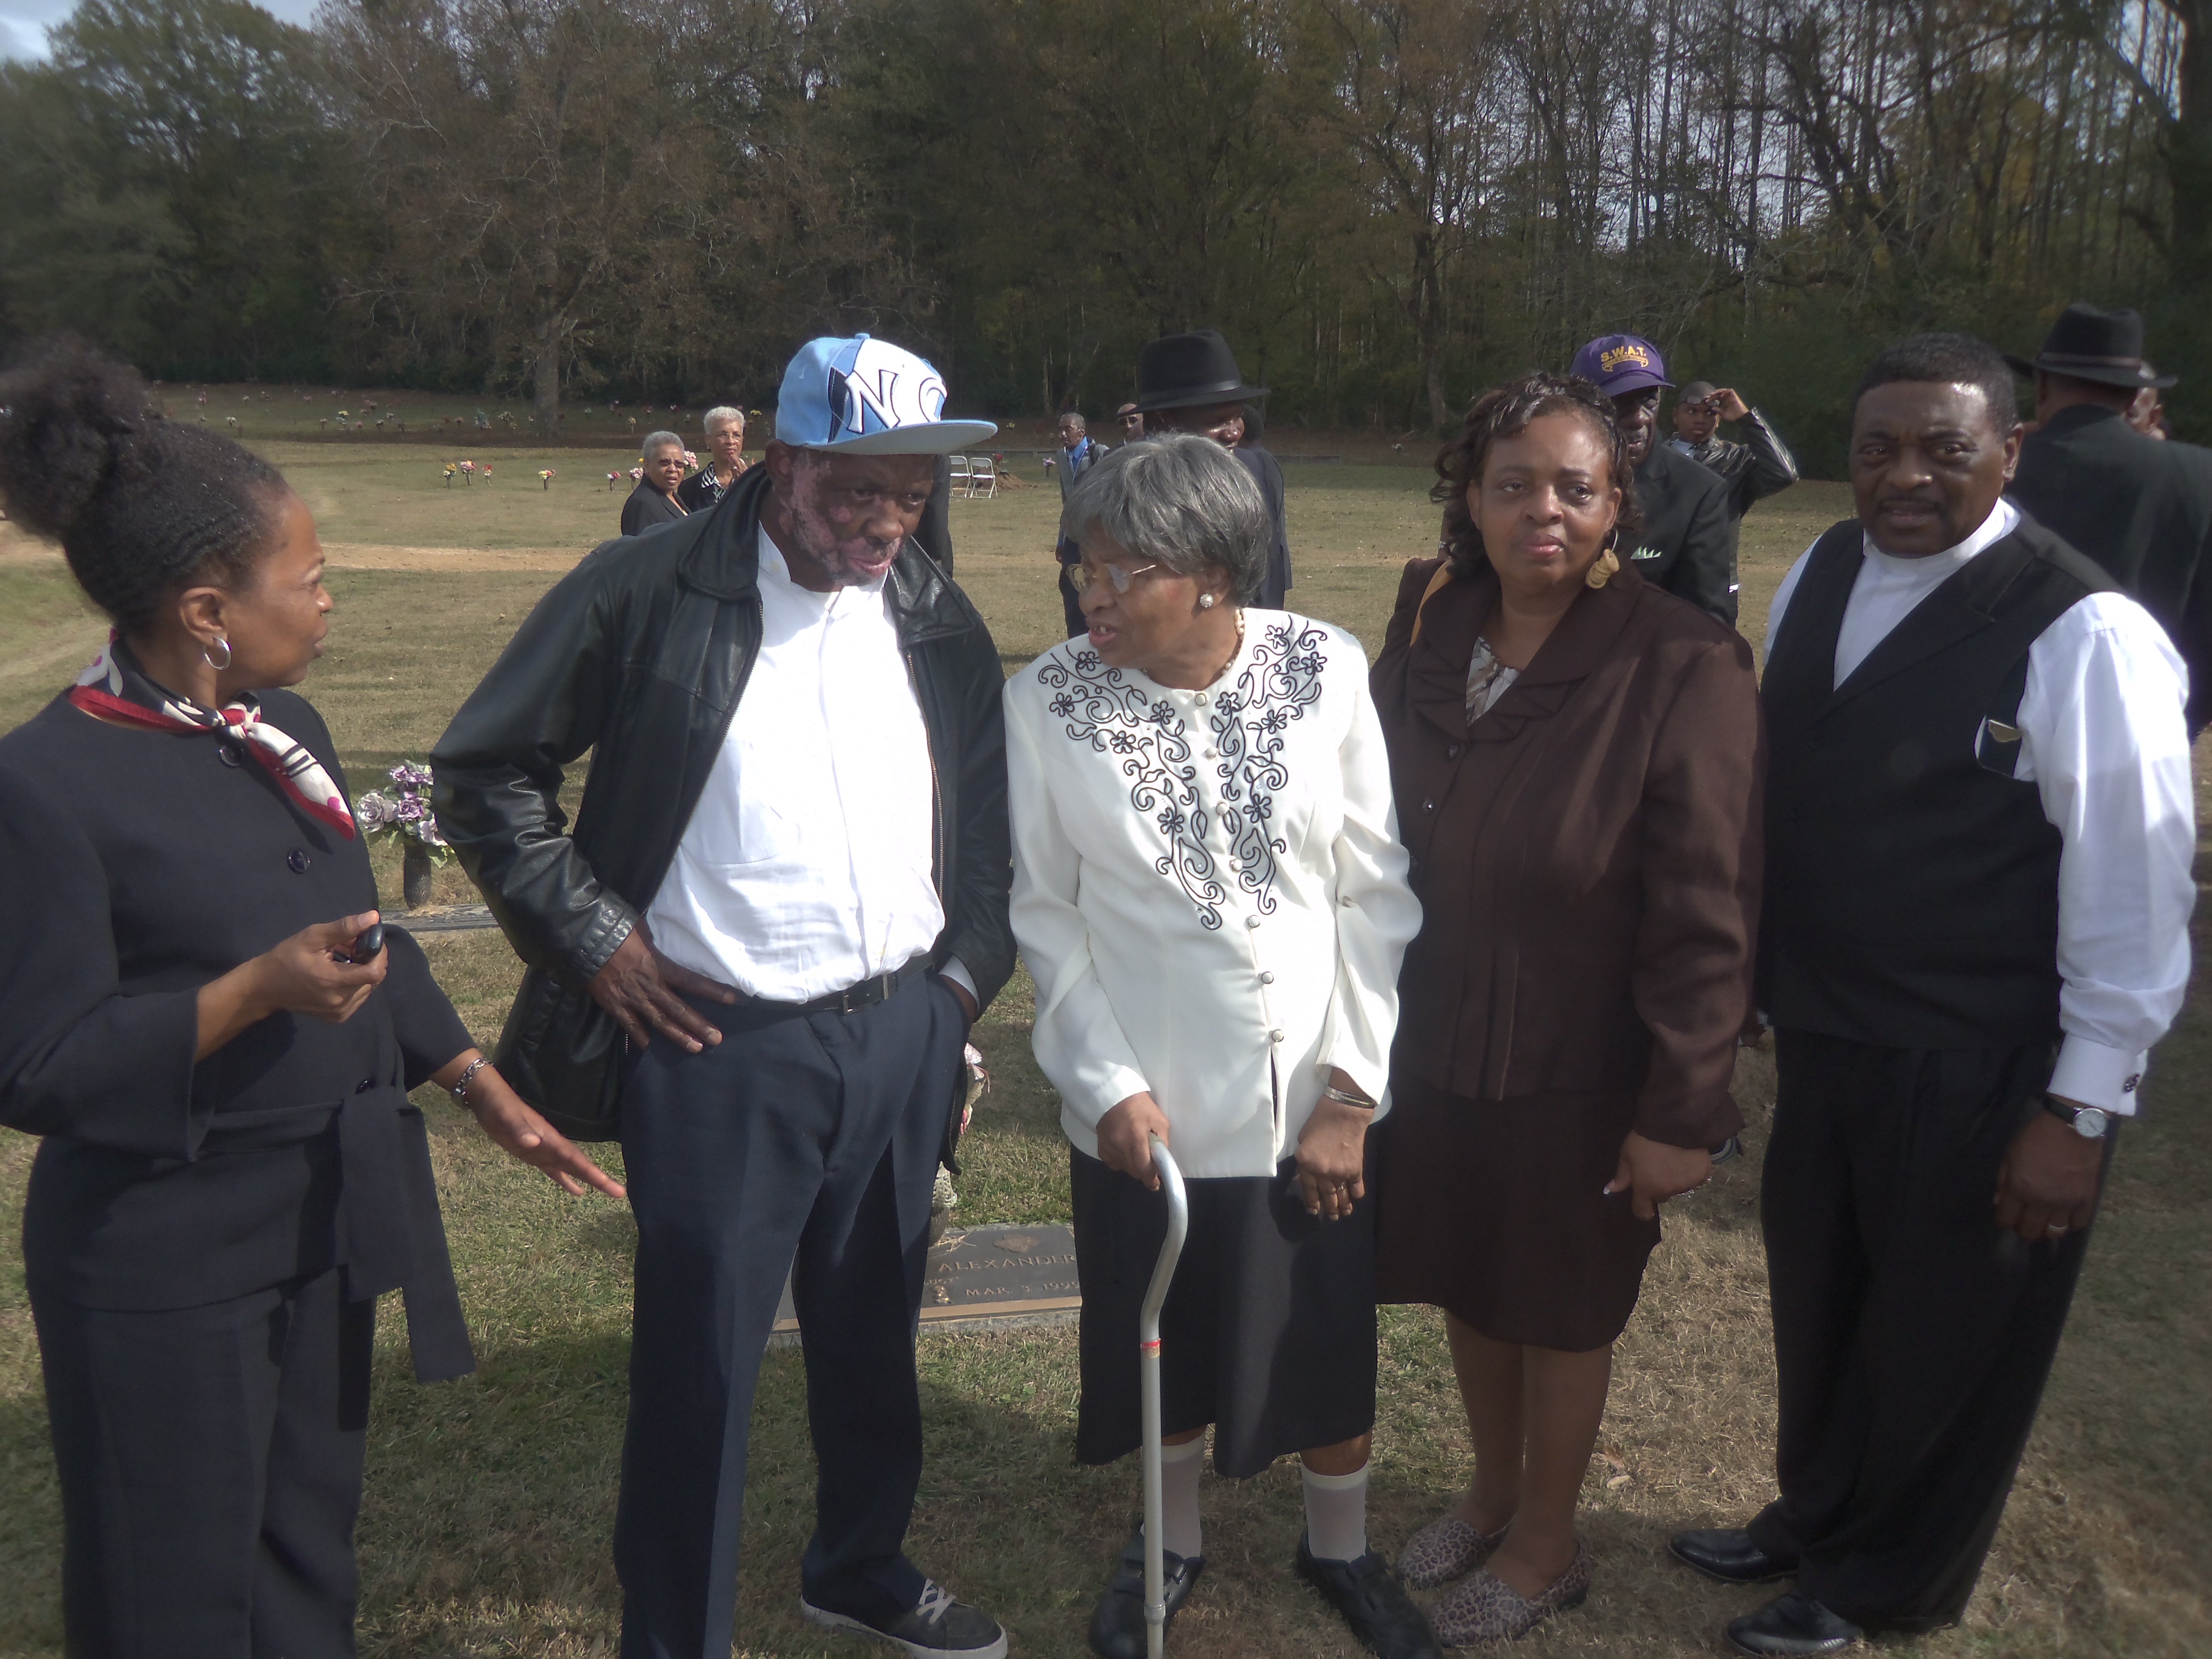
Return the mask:
[[799,347],[776,394],[776,442],[843,456],[949,456],[998,434],[945,420],[945,376],[889,341],[825,334]]

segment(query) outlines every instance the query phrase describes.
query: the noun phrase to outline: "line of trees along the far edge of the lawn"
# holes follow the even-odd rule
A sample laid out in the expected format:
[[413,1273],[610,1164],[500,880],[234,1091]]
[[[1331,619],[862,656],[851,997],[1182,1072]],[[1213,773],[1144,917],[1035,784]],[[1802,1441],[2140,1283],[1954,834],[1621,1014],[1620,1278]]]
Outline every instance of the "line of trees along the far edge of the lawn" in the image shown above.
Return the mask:
[[[984,414],[1219,325],[1274,425],[1595,334],[1816,460],[1871,343],[2137,303],[2212,367],[2212,0],[84,0],[0,66],[0,332],[161,378]],[[2190,376],[2174,409],[2212,429]],[[2194,396],[2192,396],[2194,394]]]

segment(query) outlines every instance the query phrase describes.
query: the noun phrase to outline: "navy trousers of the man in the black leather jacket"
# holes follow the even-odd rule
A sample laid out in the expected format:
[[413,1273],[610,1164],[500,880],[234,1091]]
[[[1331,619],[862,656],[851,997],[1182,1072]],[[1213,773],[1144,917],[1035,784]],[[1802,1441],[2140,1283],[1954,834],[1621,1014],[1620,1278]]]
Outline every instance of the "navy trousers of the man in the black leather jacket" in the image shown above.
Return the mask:
[[922,1597],[902,1551],[922,1478],[914,1321],[960,1002],[925,975],[849,1015],[699,1006],[721,1044],[653,1042],[622,1097],[637,1214],[615,1513],[626,1659],[728,1659],[745,1429],[787,1270],[818,1464],[801,1593],[867,1619]]

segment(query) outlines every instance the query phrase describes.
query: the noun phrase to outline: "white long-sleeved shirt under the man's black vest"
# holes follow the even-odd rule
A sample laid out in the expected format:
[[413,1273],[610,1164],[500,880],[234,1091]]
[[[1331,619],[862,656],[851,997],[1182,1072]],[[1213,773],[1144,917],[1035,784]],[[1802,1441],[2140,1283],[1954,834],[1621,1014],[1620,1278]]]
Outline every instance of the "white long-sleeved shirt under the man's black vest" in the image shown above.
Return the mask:
[[[1851,670],[2020,511],[2000,500],[1982,526],[1924,560],[1865,538],[1865,564],[1836,635],[1836,679]],[[1807,549],[1774,593],[1767,648],[1805,571]],[[2059,852],[2059,1064],[2051,1093],[2135,1113],[2150,1046],[2181,1011],[2197,905],[2197,801],[2181,717],[2188,668],[2166,630],[2121,593],[2090,593],[2028,646],[2020,761]]]

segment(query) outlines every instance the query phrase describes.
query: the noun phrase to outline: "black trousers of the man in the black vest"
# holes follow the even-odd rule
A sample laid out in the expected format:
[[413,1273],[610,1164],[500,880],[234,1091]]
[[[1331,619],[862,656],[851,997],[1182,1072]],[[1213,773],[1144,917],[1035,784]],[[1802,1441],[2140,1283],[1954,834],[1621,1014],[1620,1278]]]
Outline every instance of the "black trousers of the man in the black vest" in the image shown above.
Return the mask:
[[[1752,1537],[1869,1628],[1953,1624],[2013,1489],[2088,1232],[2024,1243],[1991,1194],[2053,1042],[1776,1033],[1761,1223],[1781,1500]],[[2110,1168],[2110,1139],[2106,1144]]]

